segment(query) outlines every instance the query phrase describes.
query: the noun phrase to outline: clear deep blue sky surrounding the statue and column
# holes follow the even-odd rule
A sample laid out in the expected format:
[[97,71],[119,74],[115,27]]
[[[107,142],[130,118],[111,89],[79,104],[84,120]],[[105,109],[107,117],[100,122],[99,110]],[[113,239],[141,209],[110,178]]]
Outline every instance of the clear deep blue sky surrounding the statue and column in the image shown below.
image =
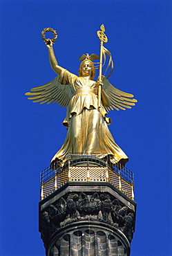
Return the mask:
[[59,64],[76,73],[83,53],[99,55],[104,24],[115,70],[111,84],[133,93],[133,109],[111,111],[110,129],[135,174],[137,218],[131,256],[171,250],[171,1],[0,1],[0,255],[45,255],[38,232],[39,174],[64,142],[66,109],[24,95],[54,79],[40,32],[59,35]]

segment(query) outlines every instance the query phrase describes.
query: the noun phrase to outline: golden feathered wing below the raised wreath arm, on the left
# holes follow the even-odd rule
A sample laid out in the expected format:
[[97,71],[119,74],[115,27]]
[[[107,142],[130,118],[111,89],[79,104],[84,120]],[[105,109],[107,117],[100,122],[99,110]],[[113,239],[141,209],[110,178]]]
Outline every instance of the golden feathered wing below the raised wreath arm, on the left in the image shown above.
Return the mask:
[[25,93],[28,100],[40,102],[40,104],[58,103],[61,107],[68,107],[70,99],[73,97],[72,86],[61,84],[59,76],[48,84],[30,89],[31,92]]

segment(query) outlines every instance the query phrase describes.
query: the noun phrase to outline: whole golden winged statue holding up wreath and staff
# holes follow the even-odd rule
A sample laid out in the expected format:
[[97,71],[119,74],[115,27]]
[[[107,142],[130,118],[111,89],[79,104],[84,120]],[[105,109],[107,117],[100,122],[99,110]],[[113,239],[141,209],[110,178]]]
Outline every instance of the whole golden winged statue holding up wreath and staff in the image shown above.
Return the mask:
[[[50,30],[50,28],[48,29]],[[46,28],[45,31],[48,29]],[[101,29],[97,32],[101,44],[100,57],[95,54],[79,57],[82,62],[78,76],[57,64],[52,48],[54,42],[52,39],[45,39],[45,31],[42,33],[48,48],[50,65],[52,70],[57,73],[57,77],[48,84],[31,89],[31,92],[26,95],[29,95],[28,99],[33,102],[40,102],[40,104],[53,102],[67,108],[66,118],[63,122],[68,129],[66,140],[52,158],[51,163],[60,161],[61,165],[64,165],[68,153],[97,153],[100,158],[108,154],[114,164],[120,162],[124,165],[128,161],[128,157],[115,143],[108,129],[111,118],[106,116],[111,109],[131,109],[137,100],[133,99],[132,94],[116,89],[106,77],[102,76],[102,55],[107,53],[110,56],[111,54],[103,46],[103,43],[107,42],[103,25]],[[52,29],[50,31],[55,32]],[[95,77],[93,60],[97,59],[100,60],[99,78],[95,82],[93,80]]]

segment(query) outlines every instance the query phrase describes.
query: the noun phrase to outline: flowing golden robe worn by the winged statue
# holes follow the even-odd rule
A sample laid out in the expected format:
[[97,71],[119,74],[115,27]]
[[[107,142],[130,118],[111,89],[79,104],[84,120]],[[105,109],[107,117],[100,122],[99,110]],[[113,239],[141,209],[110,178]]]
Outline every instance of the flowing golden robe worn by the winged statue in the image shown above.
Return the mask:
[[128,161],[126,154],[113,140],[108,129],[107,112],[103,104],[97,107],[97,84],[85,77],[78,77],[65,69],[59,75],[57,86],[62,90],[70,86],[73,94],[71,98],[64,125],[68,127],[68,133],[64,145],[52,158],[64,162],[68,153],[99,153],[109,154],[113,163]]

